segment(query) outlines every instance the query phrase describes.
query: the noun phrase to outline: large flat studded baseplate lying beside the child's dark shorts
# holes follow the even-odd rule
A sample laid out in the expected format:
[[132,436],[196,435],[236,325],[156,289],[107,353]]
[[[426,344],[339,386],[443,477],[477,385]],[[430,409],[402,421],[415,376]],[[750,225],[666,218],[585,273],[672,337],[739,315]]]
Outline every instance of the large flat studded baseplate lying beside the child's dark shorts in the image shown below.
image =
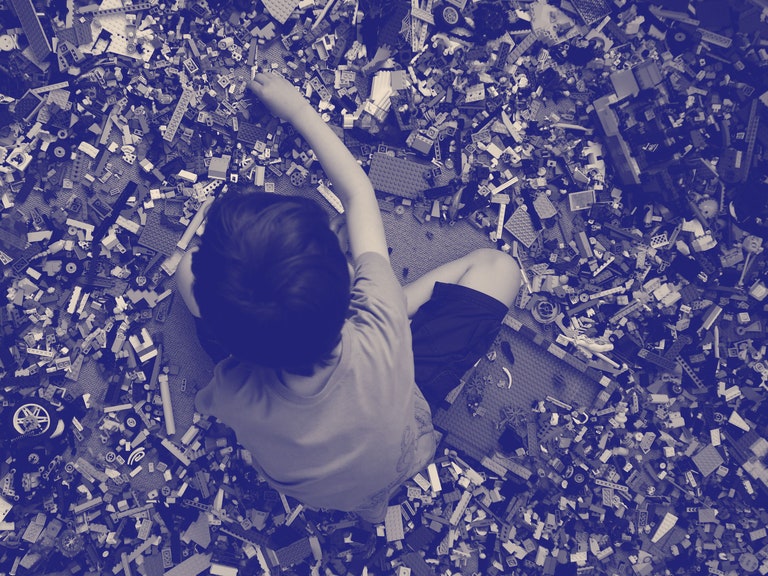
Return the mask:
[[[548,352],[548,341],[528,336],[527,332],[502,326],[489,351],[491,357],[495,353],[495,359],[482,358],[465,375],[465,385],[450,408],[433,415],[447,444],[481,461],[499,448],[498,439],[504,431],[499,424],[505,412],[527,414],[530,420],[532,406],[547,396],[574,409],[592,406],[601,385]],[[514,362],[502,351],[505,341],[510,344]],[[511,386],[505,369],[511,376]]]

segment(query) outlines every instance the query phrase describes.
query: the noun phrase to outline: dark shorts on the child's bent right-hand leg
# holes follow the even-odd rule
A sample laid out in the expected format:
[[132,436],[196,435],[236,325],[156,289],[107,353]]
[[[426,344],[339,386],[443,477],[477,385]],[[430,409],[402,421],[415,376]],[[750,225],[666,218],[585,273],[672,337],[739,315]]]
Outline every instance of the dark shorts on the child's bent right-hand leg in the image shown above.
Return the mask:
[[458,284],[437,282],[411,321],[416,384],[433,411],[493,344],[507,306]]

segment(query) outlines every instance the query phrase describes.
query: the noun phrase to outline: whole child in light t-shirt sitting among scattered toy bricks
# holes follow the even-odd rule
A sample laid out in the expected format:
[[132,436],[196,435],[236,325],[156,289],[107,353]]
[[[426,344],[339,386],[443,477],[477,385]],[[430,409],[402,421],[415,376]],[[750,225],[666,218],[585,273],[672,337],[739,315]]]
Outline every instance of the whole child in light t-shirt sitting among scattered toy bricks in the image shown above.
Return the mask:
[[430,405],[487,351],[520,272],[506,254],[477,250],[402,288],[352,154],[287,80],[257,74],[250,87],[317,154],[345,207],[354,273],[316,202],[217,199],[176,274],[228,355],[195,407],[234,430],[277,490],[380,522],[433,458]]

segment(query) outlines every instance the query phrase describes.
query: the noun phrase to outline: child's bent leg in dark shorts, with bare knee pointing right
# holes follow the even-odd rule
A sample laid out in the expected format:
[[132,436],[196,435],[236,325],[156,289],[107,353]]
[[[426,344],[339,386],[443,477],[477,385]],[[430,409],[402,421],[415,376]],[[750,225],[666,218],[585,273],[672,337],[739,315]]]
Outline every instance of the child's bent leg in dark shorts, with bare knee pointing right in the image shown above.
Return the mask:
[[493,344],[520,281],[510,256],[476,250],[405,287],[416,384],[433,411]]

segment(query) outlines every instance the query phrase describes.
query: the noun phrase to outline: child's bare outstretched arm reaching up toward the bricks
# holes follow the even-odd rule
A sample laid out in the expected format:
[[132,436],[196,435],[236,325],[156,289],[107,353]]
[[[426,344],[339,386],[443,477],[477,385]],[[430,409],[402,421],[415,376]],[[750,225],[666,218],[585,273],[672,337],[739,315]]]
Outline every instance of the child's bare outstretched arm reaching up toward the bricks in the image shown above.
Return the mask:
[[377,252],[389,260],[373,185],[344,143],[288,80],[259,73],[249,86],[273,113],[293,124],[314,150],[347,213],[352,257]]

